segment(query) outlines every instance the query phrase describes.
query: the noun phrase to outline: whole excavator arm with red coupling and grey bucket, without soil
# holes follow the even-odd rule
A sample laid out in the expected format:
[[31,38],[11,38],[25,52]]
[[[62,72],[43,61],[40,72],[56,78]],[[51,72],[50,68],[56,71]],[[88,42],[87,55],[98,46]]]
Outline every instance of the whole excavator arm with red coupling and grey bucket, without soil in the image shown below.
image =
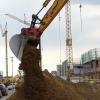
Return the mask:
[[[66,3],[68,3],[69,0],[54,0],[51,7],[48,9],[46,14],[43,16],[42,19],[38,17],[38,15],[41,13],[41,11],[47,7],[47,5],[50,3],[51,0],[45,0],[43,3],[42,8],[39,10],[37,14],[32,15],[32,21],[30,27],[28,28],[22,28],[20,34],[14,35],[10,39],[10,48],[14,55],[21,60],[23,49],[25,44],[28,40],[32,40],[32,45],[34,47],[41,47],[40,45],[40,38],[43,32],[46,30],[46,28],[50,25],[50,23],[54,20],[54,18],[57,16],[57,14],[60,12],[60,10],[64,7]],[[10,16],[12,17],[12,16]],[[38,24],[38,27],[36,26]]]

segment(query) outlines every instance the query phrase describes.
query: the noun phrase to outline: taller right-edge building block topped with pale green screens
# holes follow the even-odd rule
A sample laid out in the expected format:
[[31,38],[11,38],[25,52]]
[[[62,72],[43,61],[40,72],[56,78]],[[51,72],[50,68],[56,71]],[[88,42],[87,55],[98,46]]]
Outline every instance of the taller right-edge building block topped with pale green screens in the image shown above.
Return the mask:
[[91,49],[88,52],[82,54],[81,62],[83,66],[87,66],[91,69],[88,71],[90,78],[100,79],[100,49]]

